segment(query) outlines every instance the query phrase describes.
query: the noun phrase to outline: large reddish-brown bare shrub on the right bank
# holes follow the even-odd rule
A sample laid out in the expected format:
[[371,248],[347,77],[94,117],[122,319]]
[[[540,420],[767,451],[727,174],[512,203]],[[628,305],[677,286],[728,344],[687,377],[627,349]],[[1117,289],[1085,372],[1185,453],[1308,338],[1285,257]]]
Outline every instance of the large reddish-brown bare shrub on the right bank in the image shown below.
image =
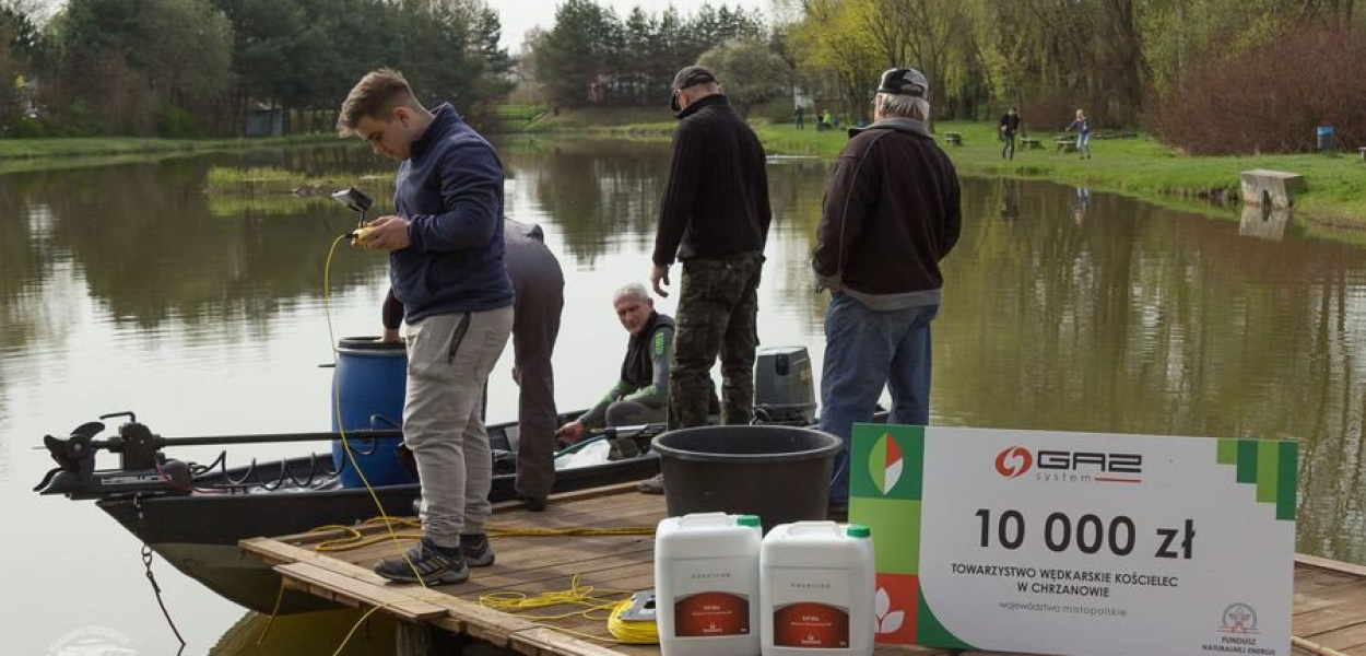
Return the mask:
[[1315,128],[1366,145],[1366,34],[1296,30],[1232,59],[1209,57],[1158,100],[1154,127],[1193,154],[1307,152]]

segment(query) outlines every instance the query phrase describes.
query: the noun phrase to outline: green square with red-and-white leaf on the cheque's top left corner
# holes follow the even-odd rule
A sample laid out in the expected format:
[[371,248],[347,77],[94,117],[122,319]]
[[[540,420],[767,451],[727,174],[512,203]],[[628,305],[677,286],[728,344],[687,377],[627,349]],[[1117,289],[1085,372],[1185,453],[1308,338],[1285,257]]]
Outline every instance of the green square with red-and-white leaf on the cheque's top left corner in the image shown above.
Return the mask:
[[919,500],[925,428],[854,424],[850,496]]

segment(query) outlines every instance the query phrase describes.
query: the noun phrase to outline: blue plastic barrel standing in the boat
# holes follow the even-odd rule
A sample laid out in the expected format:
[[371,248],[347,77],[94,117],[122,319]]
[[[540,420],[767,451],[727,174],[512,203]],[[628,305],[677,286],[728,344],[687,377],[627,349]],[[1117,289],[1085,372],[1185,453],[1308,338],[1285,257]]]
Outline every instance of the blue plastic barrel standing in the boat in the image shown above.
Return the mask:
[[[403,422],[407,366],[408,357],[400,342],[381,342],[378,338],[343,338],[337,342],[337,366],[332,373],[333,385],[337,387],[328,390],[332,399],[332,430],[399,428]],[[339,415],[342,426],[337,426]],[[351,454],[370,487],[417,482],[393,452],[400,441],[400,437],[347,437]],[[332,463],[342,469],[343,487],[365,487],[355,467],[347,462],[342,440],[332,441]]]

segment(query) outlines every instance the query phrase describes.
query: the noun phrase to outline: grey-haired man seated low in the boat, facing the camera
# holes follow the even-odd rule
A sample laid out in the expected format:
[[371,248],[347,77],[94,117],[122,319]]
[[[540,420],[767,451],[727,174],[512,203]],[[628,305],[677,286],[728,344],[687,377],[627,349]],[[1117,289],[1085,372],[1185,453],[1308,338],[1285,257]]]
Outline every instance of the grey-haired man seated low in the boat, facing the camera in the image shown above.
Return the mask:
[[[631,339],[622,361],[622,377],[591,410],[555,433],[561,444],[583,439],[589,429],[663,422],[669,407],[669,361],[673,351],[673,318],[654,312],[654,299],[641,283],[612,294],[616,318]],[[611,459],[639,452],[630,437],[613,440]]]

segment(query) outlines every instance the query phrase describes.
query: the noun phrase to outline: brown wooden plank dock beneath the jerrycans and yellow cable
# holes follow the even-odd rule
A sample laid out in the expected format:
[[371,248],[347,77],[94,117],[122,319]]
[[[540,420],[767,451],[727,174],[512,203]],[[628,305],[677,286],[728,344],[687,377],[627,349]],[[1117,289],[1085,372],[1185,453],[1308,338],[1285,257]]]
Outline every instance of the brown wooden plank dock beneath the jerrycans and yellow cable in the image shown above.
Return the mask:
[[[664,518],[664,499],[616,485],[552,497],[545,512],[527,512],[516,503],[499,504],[489,526],[501,529],[653,528]],[[387,536],[382,526],[362,529]],[[408,530],[411,533],[411,530]],[[497,563],[475,569],[460,585],[423,589],[393,585],[370,566],[402,551],[392,540],[352,551],[318,552],[314,547],[340,532],[313,532],[275,538],[245,540],[242,548],[265,558],[284,578],[285,588],[351,607],[381,607],[400,622],[400,655],[422,653],[433,629],[464,636],[505,653],[526,656],[657,656],[657,645],[611,644],[602,620],[574,618],[535,623],[514,614],[479,605],[492,592],[537,596],[566,590],[575,575],[600,589],[653,588],[653,536],[503,537],[493,541]],[[404,543],[404,547],[411,543]],[[1296,556],[1295,652],[1317,656],[1366,656],[1366,566]],[[414,631],[417,638],[413,638]],[[572,633],[571,633],[572,631]],[[593,636],[602,641],[591,641]],[[404,636],[408,636],[404,638]],[[482,652],[481,652],[482,653]],[[952,652],[918,646],[878,646],[878,656]],[[425,655],[423,655],[425,656]]]

